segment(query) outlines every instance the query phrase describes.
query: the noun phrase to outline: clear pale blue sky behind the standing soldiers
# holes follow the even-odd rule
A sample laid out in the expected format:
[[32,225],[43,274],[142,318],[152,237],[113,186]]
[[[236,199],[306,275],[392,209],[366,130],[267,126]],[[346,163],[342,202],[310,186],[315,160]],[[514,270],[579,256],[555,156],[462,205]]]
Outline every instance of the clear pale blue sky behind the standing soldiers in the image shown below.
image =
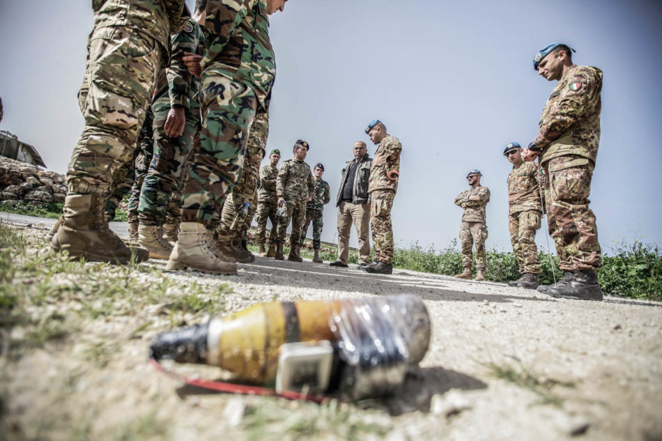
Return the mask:
[[[189,1],[192,5],[192,1]],[[1,130],[66,171],[83,127],[76,94],[84,72],[90,1],[0,1]],[[268,149],[284,159],[298,138],[323,162],[335,200],[354,141],[380,118],[403,144],[393,208],[395,240],[445,247],[456,238],[456,194],[469,169],[491,189],[488,248],[510,249],[502,156],[537,134],[555,86],[532,57],[551,42],[604,72],[602,136],[592,185],[599,238],[662,242],[662,2],[292,0],[271,18],[277,79]],[[324,212],[333,240],[336,211]],[[545,244],[546,233],[537,241]],[[355,243],[353,237],[352,242]]]

